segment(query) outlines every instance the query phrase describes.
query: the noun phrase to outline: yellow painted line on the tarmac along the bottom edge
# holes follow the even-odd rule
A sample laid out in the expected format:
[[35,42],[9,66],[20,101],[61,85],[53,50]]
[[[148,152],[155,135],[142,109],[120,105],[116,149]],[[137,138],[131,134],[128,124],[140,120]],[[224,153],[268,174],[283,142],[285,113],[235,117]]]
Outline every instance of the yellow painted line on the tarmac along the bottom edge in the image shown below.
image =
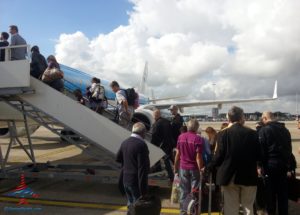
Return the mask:
[[[62,207],[127,211],[127,206],[103,204],[103,203],[84,203],[84,202],[70,202],[70,201],[58,201],[58,200],[46,200],[46,199],[27,199],[27,201],[29,204],[38,204],[38,205],[46,205],[46,206],[62,206]],[[0,202],[18,203],[19,199],[13,197],[0,197]],[[175,208],[162,208],[161,213],[179,214],[180,211],[179,209],[175,209]],[[218,214],[219,213],[211,213],[211,215],[218,215]],[[207,215],[207,213],[202,213],[201,215]]]

